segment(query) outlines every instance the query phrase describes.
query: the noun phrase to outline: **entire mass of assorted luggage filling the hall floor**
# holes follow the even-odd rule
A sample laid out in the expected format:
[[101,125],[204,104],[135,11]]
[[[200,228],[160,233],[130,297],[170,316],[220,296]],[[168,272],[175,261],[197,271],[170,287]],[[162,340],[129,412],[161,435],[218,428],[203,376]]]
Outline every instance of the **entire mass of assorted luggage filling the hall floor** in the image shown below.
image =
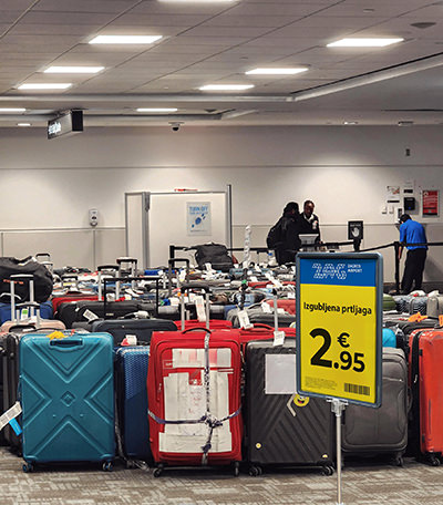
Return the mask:
[[[296,393],[292,268],[220,272],[174,259],[141,275],[132,258],[96,272],[50,267],[50,300],[37,296],[32,274],[19,274],[4,279],[0,307],[2,411],[19,414],[0,441],[23,456],[24,471],[61,462],[111,470],[119,457],[155,465],[154,476],[189,465],[230,465],[238,475],[240,464],[250,475],[279,466],[333,473],[331,406]],[[411,310],[421,307],[411,300]],[[443,332],[416,311],[420,321],[409,321],[400,299],[383,303],[383,404],[347,408],[342,450],[402,464],[408,449],[439,464]]]

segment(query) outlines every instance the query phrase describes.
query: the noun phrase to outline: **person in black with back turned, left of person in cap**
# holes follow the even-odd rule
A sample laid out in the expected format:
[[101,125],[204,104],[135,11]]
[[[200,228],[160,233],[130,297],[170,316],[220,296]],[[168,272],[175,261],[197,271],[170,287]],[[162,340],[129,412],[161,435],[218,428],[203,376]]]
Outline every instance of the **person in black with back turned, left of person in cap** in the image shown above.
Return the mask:
[[300,212],[296,202],[289,202],[284,208],[280,219],[272,226],[266,239],[268,249],[276,251],[279,265],[295,261],[296,254],[300,249],[299,238]]

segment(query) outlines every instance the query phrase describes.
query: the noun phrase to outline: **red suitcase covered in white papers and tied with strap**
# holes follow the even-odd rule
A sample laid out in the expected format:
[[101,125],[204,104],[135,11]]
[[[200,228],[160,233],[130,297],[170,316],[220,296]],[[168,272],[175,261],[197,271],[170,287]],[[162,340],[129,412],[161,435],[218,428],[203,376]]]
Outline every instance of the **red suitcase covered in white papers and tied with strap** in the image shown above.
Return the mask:
[[240,377],[238,330],[154,332],[147,374],[154,476],[165,465],[230,463],[238,475]]

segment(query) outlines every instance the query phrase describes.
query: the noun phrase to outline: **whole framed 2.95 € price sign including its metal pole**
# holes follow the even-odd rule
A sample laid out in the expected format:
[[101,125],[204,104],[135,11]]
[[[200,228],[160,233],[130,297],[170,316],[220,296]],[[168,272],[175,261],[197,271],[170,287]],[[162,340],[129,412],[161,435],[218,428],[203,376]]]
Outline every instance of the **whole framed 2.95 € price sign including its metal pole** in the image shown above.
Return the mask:
[[341,414],[381,404],[383,266],[378,252],[297,255],[297,392],[331,402],[341,502]]

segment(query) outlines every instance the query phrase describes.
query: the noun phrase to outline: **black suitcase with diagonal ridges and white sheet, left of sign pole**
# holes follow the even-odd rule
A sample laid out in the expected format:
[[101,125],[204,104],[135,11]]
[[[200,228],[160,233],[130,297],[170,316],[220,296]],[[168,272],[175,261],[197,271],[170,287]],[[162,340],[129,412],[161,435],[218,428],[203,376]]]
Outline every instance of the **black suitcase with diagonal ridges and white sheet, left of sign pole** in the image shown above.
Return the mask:
[[268,384],[269,357],[295,353],[295,339],[286,339],[284,346],[274,346],[269,340],[247,344],[246,452],[250,475],[261,474],[264,466],[319,466],[327,475],[333,473],[331,405],[322,399],[289,392],[274,394]]

